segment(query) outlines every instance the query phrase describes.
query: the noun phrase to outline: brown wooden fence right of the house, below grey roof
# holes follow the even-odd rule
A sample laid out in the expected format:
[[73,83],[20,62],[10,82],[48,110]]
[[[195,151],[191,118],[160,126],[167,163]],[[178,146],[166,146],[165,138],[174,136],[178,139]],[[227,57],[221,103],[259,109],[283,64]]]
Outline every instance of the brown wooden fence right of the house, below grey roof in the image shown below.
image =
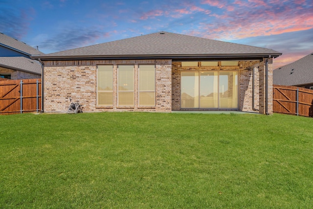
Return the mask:
[[273,112],[313,116],[313,90],[273,85]]

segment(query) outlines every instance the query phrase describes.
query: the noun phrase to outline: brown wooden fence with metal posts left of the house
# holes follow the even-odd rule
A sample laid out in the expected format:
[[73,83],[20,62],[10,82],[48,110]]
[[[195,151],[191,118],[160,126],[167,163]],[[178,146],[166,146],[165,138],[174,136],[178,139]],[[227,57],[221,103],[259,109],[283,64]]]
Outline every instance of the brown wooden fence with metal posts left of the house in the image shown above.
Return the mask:
[[0,81],[0,115],[41,111],[41,79]]

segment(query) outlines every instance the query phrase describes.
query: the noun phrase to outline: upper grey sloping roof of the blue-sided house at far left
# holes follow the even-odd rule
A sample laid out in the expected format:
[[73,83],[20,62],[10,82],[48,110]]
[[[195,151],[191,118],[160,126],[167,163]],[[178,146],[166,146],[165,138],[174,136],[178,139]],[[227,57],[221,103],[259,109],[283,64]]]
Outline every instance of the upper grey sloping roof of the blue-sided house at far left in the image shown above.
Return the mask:
[[0,46],[4,46],[7,48],[10,48],[12,50],[21,52],[23,54],[26,54],[28,56],[31,55],[43,55],[44,53],[37,50],[36,48],[29,46],[19,40],[16,40],[10,36],[4,35],[3,33],[0,33]]

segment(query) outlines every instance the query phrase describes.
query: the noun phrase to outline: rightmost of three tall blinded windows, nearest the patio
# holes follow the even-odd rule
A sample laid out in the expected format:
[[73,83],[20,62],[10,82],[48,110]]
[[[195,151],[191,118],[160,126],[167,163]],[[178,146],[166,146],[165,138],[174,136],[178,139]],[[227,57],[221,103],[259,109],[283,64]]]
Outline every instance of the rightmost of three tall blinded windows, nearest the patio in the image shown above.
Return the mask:
[[156,105],[156,68],[139,65],[139,106]]

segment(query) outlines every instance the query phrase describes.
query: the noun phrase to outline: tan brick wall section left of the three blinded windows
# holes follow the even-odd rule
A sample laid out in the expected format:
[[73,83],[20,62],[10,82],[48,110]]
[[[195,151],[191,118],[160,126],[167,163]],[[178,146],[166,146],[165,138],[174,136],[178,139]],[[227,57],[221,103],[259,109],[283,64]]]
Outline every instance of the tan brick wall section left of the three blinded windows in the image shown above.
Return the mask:
[[69,98],[86,111],[95,109],[95,66],[45,67],[44,76],[45,112],[66,112]]

